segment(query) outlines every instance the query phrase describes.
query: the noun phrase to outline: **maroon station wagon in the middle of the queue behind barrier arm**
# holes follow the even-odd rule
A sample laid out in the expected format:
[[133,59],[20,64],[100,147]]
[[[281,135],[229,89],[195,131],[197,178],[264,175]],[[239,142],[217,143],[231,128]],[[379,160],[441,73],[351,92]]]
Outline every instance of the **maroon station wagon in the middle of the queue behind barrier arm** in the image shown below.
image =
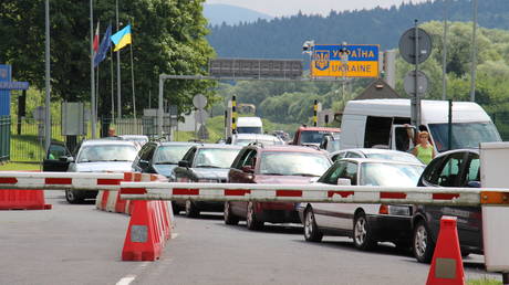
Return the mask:
[[[305,184],[331,165],[326,152],[312,147],[251,144],[233,160],[228,181]],[[225,223],[237,224],[239,220],[246,220],[249,230],[259,230],[264,222],[300,223],[291,202],[225,202]]]

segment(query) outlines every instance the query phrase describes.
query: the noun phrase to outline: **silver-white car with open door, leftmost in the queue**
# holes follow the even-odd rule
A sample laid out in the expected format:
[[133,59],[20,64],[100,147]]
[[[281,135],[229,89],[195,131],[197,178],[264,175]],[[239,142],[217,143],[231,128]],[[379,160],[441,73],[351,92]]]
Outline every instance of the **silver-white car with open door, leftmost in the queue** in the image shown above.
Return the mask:
[[[127,172],[132,171],[138,147],[133,141],[120,139],[90,139],[79,147],[75,158],[69,158],[67,172]],[[95,199],[97,191],[65,190],[70,203]]]

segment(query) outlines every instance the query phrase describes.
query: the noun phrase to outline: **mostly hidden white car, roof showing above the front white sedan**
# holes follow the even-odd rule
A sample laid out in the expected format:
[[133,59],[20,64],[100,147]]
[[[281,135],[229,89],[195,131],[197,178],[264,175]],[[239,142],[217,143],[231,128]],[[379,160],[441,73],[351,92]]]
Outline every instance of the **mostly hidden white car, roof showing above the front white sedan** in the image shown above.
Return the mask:
[[351,148],[334,151],[330,155],[332,161],[336,161],[342,158],[373,158],[373,159],[384,159],[384,160],[394,160],[402,162],[415,162],[420,163],[420,160],[416,158],[411,152],[399,151],[399,150],[389,150],[381,148]]

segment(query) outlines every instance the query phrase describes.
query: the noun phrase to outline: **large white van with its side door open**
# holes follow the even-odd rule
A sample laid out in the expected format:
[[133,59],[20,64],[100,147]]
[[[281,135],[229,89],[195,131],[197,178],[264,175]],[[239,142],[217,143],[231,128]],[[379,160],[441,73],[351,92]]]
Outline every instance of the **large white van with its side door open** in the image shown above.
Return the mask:
[[[432,138],[437,151],[448,150],[447,101],[422,101],[420,126]],[[405,124],[411,124],[409,99],[350,101],[341,122],[341,149],[388,148],[407,151]],[[453,102],[451,149],[477,148],[479,142],[500,141],[491,118],[476,103]]]

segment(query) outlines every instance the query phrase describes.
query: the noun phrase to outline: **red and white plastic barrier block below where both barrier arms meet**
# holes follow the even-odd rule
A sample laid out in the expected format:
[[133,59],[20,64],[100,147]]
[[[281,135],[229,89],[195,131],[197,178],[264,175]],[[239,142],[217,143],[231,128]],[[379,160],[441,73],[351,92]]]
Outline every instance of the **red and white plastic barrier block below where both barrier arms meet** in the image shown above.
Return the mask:
[[[133,201],[134,209],[122,250],[123,261],[158,260],[170,238],[167,203]],[[170,210],[170,209],[169,209]]]

